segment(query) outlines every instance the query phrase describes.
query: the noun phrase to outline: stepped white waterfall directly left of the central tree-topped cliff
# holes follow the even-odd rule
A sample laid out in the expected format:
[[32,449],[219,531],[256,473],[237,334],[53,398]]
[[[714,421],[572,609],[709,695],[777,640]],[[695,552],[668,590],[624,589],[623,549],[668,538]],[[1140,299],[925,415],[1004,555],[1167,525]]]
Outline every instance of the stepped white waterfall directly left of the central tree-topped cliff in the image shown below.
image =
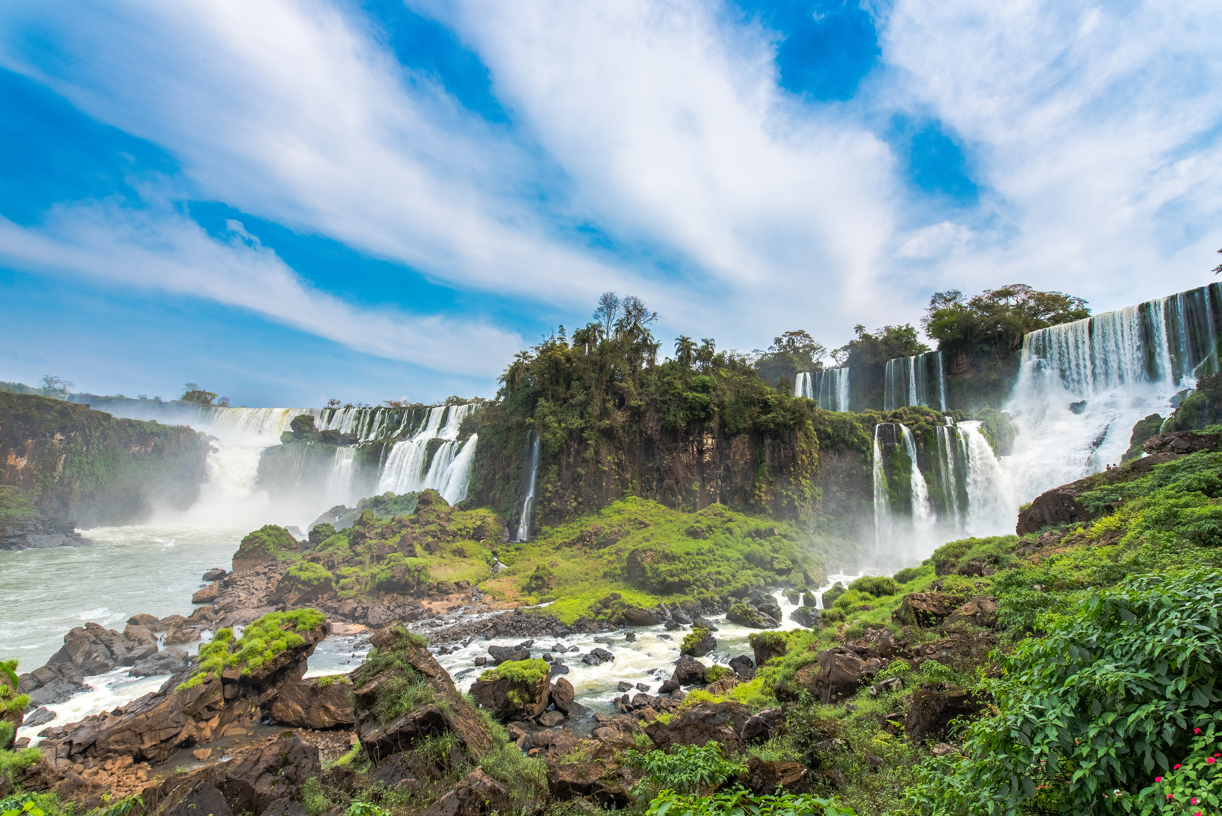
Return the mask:
[[[479,403],[430,408],[424,428],[412,439],[396,442],[395,447],[391,448],[390,456],[386,457],[386,464],[382,467],[381,478],[378,480],[378,492],[389,490],[396,494],[407,494],[429,487],[440,492],[442,487],[455,485],[452,490],[453,495],[457,495],[457,485],[461,484],[461,492],[466,497],[475,446],[470,442],[459,446],[456,440],[462,420],[478,408]],[[445,419],[445,425],[442,425],[442,419]],[[424,461],[428,456],[430,440],[445,441],[436,447],[433,462],[425,470]],[[470,456],[459,456],[459,447],[469,447]],[[468,473],[458,473],[458,468],[466,468]]]

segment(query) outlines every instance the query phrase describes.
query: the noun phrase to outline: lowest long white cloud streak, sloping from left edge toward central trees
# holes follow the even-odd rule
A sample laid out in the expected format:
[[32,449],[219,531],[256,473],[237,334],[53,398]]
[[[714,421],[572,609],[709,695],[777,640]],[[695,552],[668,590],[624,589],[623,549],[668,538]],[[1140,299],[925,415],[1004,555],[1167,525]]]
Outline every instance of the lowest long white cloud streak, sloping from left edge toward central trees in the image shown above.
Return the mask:
[[522,338],[395,309],[358,309],[319,292],[237,221],[229,242],[172,211],[57,206],[39,228],[0,219],[0,263],[203,297],[345,343],[456,374],[495,376]]

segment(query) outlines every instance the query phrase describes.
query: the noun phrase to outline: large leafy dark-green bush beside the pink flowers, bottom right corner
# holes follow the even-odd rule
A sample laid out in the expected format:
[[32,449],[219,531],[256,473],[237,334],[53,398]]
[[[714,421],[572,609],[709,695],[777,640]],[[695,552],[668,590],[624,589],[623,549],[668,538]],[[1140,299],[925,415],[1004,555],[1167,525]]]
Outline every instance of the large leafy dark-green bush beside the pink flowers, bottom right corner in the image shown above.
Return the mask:
[[965,756],[930,760],[909,806],[1128,810],[1222,710],[1220,602],[1222,570],[1196,569],[1128,578],[1045,616],[1046,636],[998,655],[1002,674],[984,684],[996,709],[968,726]]

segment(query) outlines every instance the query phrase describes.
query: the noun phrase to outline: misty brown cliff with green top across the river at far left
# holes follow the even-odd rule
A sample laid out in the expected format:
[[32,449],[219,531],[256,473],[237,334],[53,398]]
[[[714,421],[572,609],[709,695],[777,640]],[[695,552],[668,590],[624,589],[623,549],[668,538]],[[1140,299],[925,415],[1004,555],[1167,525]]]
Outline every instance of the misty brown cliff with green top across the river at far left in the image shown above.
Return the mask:
[[84,528],[188,507],[208,442],[189,428],[116,419],[88,406],[0,392],[0,485]]

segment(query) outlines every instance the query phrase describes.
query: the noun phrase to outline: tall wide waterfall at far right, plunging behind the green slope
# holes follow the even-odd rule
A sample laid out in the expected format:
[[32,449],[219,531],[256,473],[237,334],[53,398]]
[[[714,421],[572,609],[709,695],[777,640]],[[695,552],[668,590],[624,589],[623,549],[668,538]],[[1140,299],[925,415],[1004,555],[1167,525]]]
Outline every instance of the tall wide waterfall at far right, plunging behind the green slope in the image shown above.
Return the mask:
[[1121,462],[1133,425],[1218,370],[1222,283],[1041,329],[1023,340],[1006,410],[1019,435],[1009,505]]

